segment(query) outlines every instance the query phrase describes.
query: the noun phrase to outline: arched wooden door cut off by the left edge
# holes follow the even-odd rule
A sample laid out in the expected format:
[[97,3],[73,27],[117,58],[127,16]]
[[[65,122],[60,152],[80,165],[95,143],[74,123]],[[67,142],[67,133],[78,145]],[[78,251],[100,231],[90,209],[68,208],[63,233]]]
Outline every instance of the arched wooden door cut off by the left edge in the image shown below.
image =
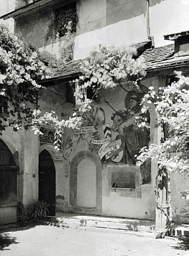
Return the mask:
[[0,222],[7,224],[17,220],[17,173],[12,152],[0,139]]

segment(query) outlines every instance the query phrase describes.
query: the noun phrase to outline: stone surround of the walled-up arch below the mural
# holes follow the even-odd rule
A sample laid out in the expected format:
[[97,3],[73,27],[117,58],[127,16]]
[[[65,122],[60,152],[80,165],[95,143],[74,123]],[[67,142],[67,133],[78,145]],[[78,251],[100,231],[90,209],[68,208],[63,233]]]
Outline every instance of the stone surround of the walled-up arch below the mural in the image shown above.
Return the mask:
[[[79,162],[83,159],[90,159],[96,166],[96,213],[102,211],[102,164],[99,156],[89,150],[79,151],[71,160],[70,164],[70,204],[75,210],[77,204],[77,169]],[[82,208],[83,211],[90,212],[90,209]]]

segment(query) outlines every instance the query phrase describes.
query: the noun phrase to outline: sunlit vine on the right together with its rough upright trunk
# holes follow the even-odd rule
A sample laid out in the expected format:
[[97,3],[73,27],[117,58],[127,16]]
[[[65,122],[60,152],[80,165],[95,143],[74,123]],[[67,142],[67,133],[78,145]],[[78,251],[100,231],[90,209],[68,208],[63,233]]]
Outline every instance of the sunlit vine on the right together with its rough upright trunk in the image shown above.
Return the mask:
[[141,149],[138,156],[138,165],[149,158],[158,162],[156,209],[158,216],[161,216],[161,223],[165,225],[156,232],[156,238],[164,237],[170,230],[170,173],[179,172],[189,176],[189,79],[180,72],[175,73],[177,81],[159,88],[158,93],[152,87],[149,88],[142,100],[142,112],[146,112],[151,104],[156,106],[159,127],[162,129],[161,143]]

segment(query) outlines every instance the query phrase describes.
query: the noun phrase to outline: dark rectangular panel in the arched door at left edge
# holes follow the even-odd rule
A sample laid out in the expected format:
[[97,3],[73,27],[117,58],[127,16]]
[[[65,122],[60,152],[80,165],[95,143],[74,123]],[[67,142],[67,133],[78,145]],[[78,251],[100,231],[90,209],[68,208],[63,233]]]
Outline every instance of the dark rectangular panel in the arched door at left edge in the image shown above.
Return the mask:
[[4,171],[4,203],[14,203],[17,201],[17,171]]

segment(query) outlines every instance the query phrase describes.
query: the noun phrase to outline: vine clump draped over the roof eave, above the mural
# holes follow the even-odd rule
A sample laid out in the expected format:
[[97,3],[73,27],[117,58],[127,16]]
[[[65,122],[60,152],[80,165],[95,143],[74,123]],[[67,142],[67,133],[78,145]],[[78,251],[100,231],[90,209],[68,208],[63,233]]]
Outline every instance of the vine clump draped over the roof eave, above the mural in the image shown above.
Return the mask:
[[136,49],[99,46],[99,50],[90,53],[83,62],[80,79],[81,94],[87,88],[98,99],[102,88],[114,88],[126,80],[132,80],[133,89],[139,91],[138,82],[145,76],[142,60],[136,59]]

